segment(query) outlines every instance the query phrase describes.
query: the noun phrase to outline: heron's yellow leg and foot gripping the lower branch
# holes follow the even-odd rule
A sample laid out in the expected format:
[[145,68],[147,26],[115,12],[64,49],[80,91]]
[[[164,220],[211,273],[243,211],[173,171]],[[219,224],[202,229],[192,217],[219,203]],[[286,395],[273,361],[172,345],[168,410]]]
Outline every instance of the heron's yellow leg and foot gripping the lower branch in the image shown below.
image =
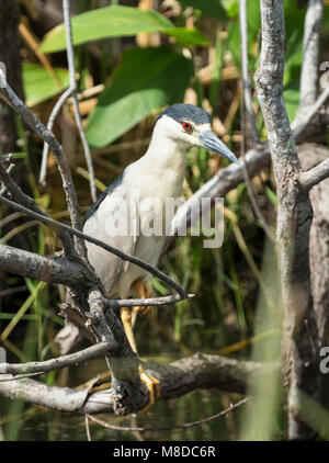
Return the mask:
[[[128,307],[123,307],[121,309],[121,319],[122,319],[122,324],[126,332],[127,339],[129,341],[129,345],[133,351],[138,355],[134,331],[133,331],[132,312]],[[156,402],[157,398],[160,397],[160,382],[156,377],[147,374],[141,364],[139,364],[139,375],[140,375],[140,381],[143,381],[143,383],[146,385],[149,392],[148,404],[144,408],[141,408],[141,410],[139,410],[139,411],[145,411]]]

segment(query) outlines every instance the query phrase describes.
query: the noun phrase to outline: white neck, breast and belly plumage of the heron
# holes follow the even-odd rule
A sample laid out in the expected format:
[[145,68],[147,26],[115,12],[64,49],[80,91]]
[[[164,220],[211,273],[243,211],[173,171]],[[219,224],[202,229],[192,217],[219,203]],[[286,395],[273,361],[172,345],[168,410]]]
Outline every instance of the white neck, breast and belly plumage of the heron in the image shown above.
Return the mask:
[[[151,147],[151,146],[150,146]],[[182,185],[185,174],[185,149],[178,150],[177,145],[157,145],[157,151],[149,149],[138,161],[125,169],[122,184],[115,191],[123,199],[132,192],[132,197],[138,195],[139,201],[139,230],[137,236],[114,237],[109,235],[109,224],[113,221],[113,215],[109,213],[109,206],[113,203],[112,195],[109,195],[95,211],[95,217],[91,217],[86,226],[86,232],[91,232],[94,237],[103,239],[105,242],[118,249],[132,253],[135,257],[156,267],[166,244],[164,217],[166,200],[168,197],[178,199],[182,194]],[[114,193],[113,193],[114,194]],[[148,201],[157,201],[160,210],[148,210]],[[150,214],[152,219],[162,224],[162,236],[146,236],[145,226],[149,224]],[[167,224],[168,225],[168,224]],[[151,275],[139,267],[113,257],[99,252],[93,245],[88,246],[88,256],[91,264],[101,279],[106,295],[113,297],[128,297],[132,293],[132,285],[138,279],[150,280]]]

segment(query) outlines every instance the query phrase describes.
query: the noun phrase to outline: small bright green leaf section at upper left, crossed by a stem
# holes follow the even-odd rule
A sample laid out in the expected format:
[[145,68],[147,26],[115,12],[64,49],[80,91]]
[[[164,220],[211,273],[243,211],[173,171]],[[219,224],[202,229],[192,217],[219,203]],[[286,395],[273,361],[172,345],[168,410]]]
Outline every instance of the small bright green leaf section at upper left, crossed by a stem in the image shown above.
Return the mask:
[[[54,69],[63,88],[69,86],[69,75],[66,69]],[[48,98],[61,92],[58,83],[49,72],[39,65],[23,64],[23,83],[27,106],[34,106]]]

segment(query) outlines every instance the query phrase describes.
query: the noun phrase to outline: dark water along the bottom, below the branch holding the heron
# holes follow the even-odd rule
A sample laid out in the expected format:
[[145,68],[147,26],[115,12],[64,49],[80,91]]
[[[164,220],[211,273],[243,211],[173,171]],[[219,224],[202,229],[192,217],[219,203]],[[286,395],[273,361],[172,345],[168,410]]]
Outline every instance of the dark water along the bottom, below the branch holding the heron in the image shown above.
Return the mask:
[[[239,399],[236,394],[220,394],[217,391],[196,391],[178,399],[159,400],[146,413],[128,417],[98,415],[97,417],[120,427],[173,427],[207,418],[229,407]],[[22,441],[83,441],[87,440],[84,417],[48,411],[23,404],[19,400],[9,403],[1,398],[1,410],[10,411],[0,415],[2,433],[5,440]],[[15,410],[16,408],[16,410]],[[21,413],[15,414],[14,411]],[[218,441],[238,439],[241,410],[216,418],[209,422],[192,426],[188,429],[161,431],[118,431],[104,429],[90,422],[91,439],[95,441],[136,441],[136,440],[173,440],[173,441]]]

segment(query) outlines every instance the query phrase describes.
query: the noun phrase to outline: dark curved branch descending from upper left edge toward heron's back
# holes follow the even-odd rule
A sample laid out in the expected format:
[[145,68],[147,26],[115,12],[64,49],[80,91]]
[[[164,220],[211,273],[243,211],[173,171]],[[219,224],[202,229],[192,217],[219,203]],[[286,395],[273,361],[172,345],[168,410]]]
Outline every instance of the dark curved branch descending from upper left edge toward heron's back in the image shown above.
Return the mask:
[[[44,124],[25,106],[22,100],[8,84],[3,71],[0,69],[0,93],[2,93],[13,109],[20,114],[25,124],[31,127],[44,142],[46,142],[55,154],[58,170],[63,180],[63,188],[66,195],[67,206],[70,213],[71,224],[75,228],[81,229],[80,208],[73,185],[67,157],[57,138],[44,126]],[[83,240],[77,239],[78,252],[87,258],[87,249]]]

